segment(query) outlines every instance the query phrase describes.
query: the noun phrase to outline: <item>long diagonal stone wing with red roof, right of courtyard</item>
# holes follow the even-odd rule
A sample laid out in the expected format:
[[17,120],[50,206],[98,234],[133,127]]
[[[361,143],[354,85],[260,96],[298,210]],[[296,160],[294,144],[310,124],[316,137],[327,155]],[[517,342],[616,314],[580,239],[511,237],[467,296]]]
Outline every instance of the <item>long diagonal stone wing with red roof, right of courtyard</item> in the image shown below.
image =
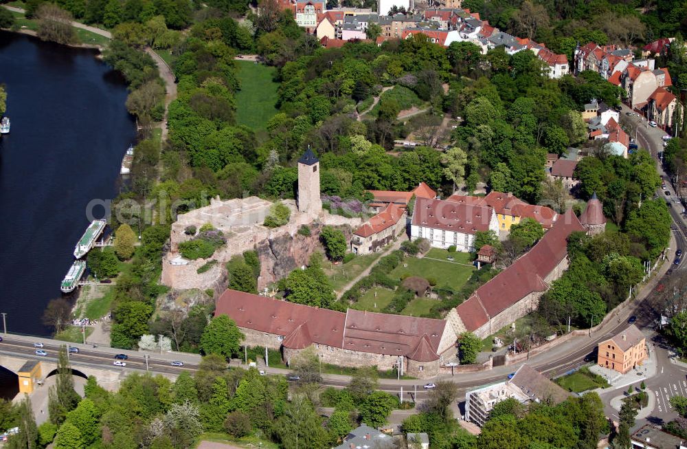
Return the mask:
[[446,318],[455,334],[470,331],[486,338],[536,309],[541,295],[568,266],[567,237],[574,231],[585,227],[568,210],[534,248],[449,311]]

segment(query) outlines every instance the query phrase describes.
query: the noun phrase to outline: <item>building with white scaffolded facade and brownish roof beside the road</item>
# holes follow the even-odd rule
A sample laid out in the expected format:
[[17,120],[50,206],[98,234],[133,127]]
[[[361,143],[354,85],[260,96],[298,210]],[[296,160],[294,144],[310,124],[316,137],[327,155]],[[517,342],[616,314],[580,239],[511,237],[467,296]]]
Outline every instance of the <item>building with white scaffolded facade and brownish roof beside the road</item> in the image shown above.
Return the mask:
[[528,364],[523,364],[509,380],[466,391],[465,420],[480,427],[484,426],[494,406],[510,397],[517,399],[521,404],[560,404],[570,396],[572,393],[563,390],[561,386],[554,384]]

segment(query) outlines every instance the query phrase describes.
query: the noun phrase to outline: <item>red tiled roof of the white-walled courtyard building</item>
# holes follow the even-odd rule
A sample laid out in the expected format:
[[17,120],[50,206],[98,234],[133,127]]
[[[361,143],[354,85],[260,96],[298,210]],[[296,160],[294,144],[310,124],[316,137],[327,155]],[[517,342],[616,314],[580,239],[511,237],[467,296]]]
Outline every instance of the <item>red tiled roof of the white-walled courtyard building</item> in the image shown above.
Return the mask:
[[412,223],[427,228],[474,234],[489,229],[492,213],[492,208],[486,206],[418,198]]

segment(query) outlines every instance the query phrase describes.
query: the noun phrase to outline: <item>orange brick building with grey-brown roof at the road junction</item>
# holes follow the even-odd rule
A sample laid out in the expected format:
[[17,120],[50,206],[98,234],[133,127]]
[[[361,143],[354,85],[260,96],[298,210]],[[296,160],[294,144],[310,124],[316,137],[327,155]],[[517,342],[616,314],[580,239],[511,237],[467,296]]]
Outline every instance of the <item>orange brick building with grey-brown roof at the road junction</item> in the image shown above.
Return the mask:
[[618,373],[627,373],[649,358],[646,338],[637,326],[631,325],[618,335],[599,343],[597,363]]

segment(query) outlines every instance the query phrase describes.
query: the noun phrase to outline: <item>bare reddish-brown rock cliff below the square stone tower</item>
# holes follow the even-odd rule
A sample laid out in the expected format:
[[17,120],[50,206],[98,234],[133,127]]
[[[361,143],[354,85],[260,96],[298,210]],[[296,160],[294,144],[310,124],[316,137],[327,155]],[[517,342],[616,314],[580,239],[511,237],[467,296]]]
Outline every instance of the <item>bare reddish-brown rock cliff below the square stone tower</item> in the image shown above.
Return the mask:
[[[337,226],[350,241],[352,229],[350,226]],[[287,276],[297,267],[307,265],[311,254],[319,247],[319,232],[322,225],[311,226],[311,235],[282,234],[278,237],[265,239],[257,245],[260,258],[260,276],[258,277],[258,290],[262,290],[269,284]]]

